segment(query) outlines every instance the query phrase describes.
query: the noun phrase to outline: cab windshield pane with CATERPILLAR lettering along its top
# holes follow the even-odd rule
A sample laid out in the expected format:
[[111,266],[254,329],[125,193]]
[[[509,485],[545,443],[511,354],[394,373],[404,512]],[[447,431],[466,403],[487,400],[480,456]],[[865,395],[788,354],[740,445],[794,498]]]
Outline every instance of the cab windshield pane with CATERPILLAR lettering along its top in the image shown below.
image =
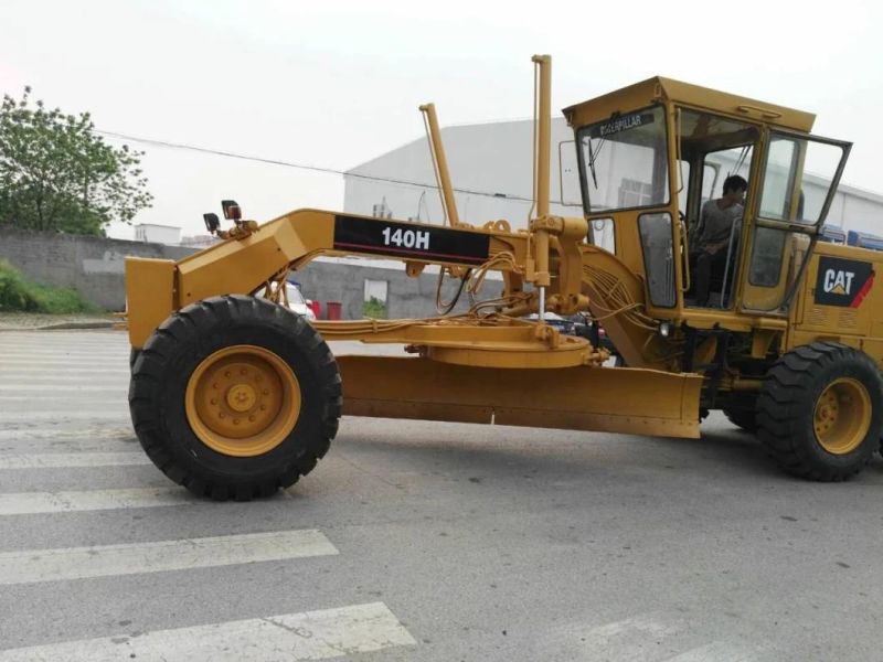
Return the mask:
[[586,213],[668,204],[662,106],[583,127],[577,143]]

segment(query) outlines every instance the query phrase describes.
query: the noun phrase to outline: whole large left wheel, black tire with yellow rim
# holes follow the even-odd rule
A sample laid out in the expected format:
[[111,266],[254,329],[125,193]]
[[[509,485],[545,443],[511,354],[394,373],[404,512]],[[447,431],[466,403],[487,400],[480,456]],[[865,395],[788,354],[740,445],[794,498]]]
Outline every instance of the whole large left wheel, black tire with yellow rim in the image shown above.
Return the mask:
[[191,305],[145,343],[129,408],[141,445],[198,494],[248,500],[309,473],[334,437],[337,363],[300,316],[254,297]]

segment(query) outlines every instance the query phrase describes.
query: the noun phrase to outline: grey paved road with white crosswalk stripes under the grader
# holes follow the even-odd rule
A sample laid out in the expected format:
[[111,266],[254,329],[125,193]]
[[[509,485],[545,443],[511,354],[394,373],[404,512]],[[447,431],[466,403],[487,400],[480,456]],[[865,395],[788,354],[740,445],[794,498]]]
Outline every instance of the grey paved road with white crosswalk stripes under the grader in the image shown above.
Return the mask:
[[0,661],[883,659],[883,461],[344,419],[268,501],[191,498],[118,332],[0,333]]

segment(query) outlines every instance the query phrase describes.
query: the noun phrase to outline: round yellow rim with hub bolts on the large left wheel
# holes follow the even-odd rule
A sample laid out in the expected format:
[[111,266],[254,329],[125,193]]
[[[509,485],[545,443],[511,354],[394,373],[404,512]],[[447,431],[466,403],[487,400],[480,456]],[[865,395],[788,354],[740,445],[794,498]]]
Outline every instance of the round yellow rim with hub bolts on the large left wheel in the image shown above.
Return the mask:
[[254,457],[276,448],[300,414],[300,384],[279,356],[232,345],[196,366],[187,384],[187,418],[212,450]]

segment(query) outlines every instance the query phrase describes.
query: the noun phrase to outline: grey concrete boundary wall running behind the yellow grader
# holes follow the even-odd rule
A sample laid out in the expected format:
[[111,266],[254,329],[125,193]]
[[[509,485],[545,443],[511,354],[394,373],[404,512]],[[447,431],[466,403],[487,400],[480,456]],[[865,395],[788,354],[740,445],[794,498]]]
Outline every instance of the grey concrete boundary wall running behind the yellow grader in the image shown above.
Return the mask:
[[[76,288],[91,301],[107,310],[123,310],[126,301],[124,258],[127,255],[180,259],[193,248],[125,242],[79,235],[31,233],[0,229],[0,259],[7,259],[29,279],[43,285]],[[341,303],[343,319],[361,319],[365,279],[384,280],[387,286],[386,312],[390,318],[432,317],[436,314],[437,274],[408,278],[404,264],[385,260],[313,261],[296,275],[304,296],[321,302],[326,314],[328,301]],[[387,267],[387,268],[384,268]],[[500,281],[489,280],[490,296],[499,292]],[[448,301],[456,289],[443,289]],[[467,297],[457,311],[468,308]]]

